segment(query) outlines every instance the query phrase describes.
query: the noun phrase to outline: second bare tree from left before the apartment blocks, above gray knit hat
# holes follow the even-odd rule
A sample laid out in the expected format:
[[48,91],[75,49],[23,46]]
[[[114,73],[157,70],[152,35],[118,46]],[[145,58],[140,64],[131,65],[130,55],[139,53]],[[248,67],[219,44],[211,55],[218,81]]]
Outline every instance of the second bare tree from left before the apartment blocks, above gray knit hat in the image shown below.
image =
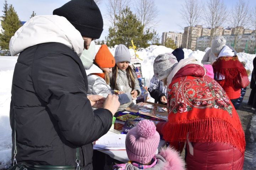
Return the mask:
[[222,26],[222,24],[226,21],[228,11],[226,10],[223,0],[209,0],[204,9],[203,19],[208,28],[211,29],[210,45],[212,45],[212,40],[216,36],[216,27]]

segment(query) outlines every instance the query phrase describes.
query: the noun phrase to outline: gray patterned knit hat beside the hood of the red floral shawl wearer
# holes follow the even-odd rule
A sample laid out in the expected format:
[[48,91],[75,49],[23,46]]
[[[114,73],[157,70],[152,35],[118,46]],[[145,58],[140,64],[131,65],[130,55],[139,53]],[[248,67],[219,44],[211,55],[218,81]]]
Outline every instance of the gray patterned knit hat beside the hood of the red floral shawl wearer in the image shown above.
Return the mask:
[[165,79],[177,64],[178,61],[172,53],[160,54],[153,64],[154,74],[159,80]]

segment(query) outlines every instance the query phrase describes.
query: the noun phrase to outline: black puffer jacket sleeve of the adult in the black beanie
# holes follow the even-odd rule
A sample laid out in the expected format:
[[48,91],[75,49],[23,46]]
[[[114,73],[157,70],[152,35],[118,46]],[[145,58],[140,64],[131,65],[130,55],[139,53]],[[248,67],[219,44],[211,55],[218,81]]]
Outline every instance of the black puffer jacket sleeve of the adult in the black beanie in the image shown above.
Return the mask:
[[84,76],[69,55],[55,53],[33,61],[32,81],[56,128],[75,146],[89,144],[106,134],[112,124],[107,109],[92,111]]

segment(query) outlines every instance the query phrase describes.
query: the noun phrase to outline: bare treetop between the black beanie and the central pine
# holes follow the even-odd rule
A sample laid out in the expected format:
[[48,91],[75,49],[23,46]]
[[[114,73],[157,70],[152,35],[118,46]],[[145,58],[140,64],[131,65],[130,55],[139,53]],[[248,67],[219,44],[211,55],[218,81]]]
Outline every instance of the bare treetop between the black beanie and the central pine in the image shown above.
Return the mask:
[[120,12],[128,6],[128,2],[128,0],[108,0],[107,16],[112,28],[116,28],[116,16],[120,16]]

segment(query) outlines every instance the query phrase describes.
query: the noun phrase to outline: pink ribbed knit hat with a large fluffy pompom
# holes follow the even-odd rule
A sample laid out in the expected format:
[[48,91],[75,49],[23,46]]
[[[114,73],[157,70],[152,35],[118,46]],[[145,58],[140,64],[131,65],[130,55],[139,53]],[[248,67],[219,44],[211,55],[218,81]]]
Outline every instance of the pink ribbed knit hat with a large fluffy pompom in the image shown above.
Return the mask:
[[126,135],[126,152],[131,161],[146,164],[156,154],[160,141],[159,133],[152,121],[141,120]]

